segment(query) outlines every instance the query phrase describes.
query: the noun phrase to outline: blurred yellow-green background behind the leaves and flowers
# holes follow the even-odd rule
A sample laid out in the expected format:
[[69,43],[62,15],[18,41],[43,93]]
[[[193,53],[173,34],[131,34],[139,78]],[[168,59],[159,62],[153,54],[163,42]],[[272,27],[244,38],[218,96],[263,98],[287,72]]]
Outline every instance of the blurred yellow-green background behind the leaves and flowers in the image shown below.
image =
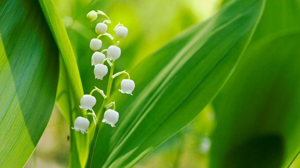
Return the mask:
[[[174,36],[216,13],[223,0],[56,0],[55,3],[66,26],[77,57],[84,92],[87,93],[94,85],[104,88],[107,83],[103,82],[105,80],[90,80],[94,78],[94,74],[90,73],[93,71],[90,61],[93,51],[88,45],[90,39],[96,37],[96,33],[95,23],[86,19],[86,13],[102,10],[112,21],[120,21],[129,29],[127,38],[119,45],[122,55],[126,57],[119,58],[115,69],[130,71]],[[103,48],[107,48],[109,40],[103,38],[102,41]],[[216,104],[218,100],[222,100],[222,95],[217,97]],[[98,108],[99,105],[100,103]],[[135,167],[209,167],[210,148],[213,143],[211,138],[218,123],[214,109],[214,104],[208,105],[192,123]],[[264,121],[261,123],[264,124]],[[36,151],[25,167],[67,167],[68,136],[69,126],[54,107]],[[291,167],[300,167],[300,159],[296,159]]]

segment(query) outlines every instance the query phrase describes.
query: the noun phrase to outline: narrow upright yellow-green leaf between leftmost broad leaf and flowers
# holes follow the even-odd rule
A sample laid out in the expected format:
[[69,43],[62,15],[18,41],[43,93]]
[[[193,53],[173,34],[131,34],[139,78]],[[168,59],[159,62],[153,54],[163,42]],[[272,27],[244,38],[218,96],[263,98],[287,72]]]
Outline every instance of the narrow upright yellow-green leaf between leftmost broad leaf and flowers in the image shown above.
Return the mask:
[[[75,118],[84,116],[85,114],[85,111],[79,109],[79,101],[83,95],[83,88],[77,62],[66,29],[53,0],[39,0],[39,3],[59,48],[65,66],[65,68],[63,68],[65,73],[61,73],[61,75],[64,76],[60,77],[58,84],[57,104],[62,111],[63,116],[67,119],[69,118],[70,120],[68,122],[73,126]],[[73,160],[74,163],[77,163],[78,161],[76,161],[76,159],[79,159],[80,165],[77,164],[77,166],[84,167],[88,156],[88,136],[83,135],[80,132],[71,133],[71,145],[73,147],[72,140],[74,139],[76,139],[77,149],[74,149],[71,152],[78,151],[78,154],[71,153],[71,157],[75,155],[78,155],[78,157],[72,158],[71,161]],[[74,164],[72,163],[71,165]]]

